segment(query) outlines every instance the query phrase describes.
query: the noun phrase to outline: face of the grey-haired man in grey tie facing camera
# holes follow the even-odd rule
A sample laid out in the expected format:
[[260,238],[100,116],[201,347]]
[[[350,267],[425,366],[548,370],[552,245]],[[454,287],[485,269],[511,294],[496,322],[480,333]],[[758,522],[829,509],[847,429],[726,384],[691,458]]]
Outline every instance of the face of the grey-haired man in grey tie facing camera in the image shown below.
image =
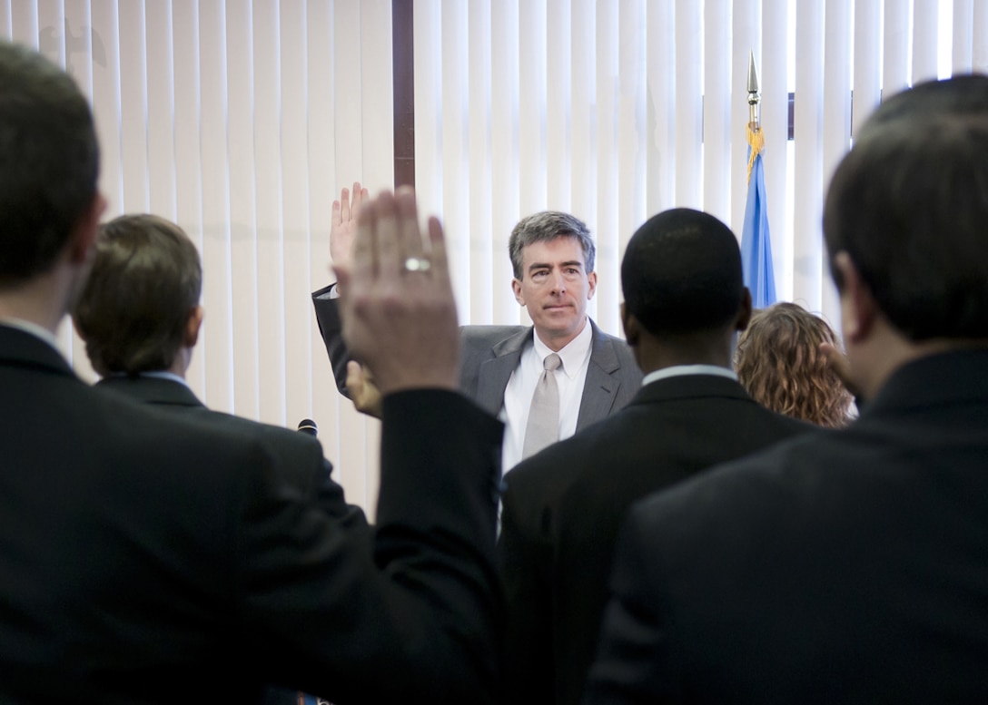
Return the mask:
[[535,333],[559,350],[583,330],[597,273],[587,272],[580,241],[571,235],[522,250],[522,278],[512,279],[515,298],[529,309]]

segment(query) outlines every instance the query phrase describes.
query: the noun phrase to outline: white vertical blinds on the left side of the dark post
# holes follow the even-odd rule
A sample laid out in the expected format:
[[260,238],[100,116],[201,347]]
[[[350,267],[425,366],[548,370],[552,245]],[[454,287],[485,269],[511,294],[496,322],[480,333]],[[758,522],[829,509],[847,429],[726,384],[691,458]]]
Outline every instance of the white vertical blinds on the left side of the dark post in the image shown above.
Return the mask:
[[[309,295],[331,281],[339,189],[391,181],[389,0],[2,0],[0,34],[91,97],[107,217],[154,212],[197,244],[194,391],[289,429],[313,419],[372,510],[379,430],[337,393]],[[60,340],[95,380],[70,326]]]

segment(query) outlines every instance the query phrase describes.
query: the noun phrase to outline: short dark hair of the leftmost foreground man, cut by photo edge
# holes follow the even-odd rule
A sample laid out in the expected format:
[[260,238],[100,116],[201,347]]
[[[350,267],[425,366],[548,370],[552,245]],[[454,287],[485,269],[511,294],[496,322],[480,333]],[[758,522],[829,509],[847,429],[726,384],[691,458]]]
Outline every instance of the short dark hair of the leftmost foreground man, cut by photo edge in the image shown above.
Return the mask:
[[98,193],[100,150],[75,81],[0,40],[0,287],[43,274]]

